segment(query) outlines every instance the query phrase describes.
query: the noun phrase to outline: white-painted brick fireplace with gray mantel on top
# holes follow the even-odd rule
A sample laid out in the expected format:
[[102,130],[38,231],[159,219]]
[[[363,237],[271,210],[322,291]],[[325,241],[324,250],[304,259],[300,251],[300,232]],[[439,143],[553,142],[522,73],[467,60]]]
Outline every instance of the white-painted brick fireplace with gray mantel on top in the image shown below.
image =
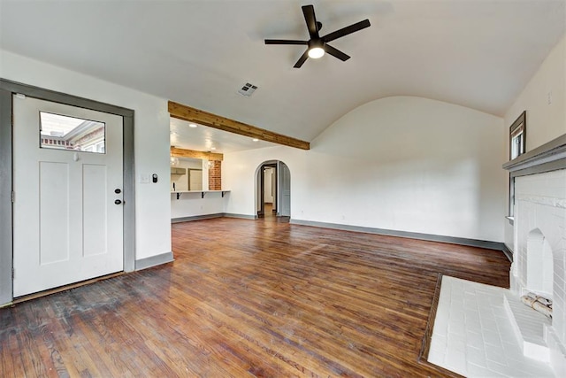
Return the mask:
[[556,376],[566,376],[566,135],[503,167],[515,192],[511,291],[553,300],[544,339]]

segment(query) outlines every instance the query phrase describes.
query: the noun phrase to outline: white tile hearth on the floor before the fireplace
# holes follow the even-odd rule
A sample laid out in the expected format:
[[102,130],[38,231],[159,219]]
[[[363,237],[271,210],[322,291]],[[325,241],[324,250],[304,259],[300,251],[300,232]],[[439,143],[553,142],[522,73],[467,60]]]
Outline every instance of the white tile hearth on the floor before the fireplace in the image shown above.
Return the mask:
[[524,356],[506,297],[533,311],[509,289],[443,276],[428,361],[468,377],[554,377],[550,365]]

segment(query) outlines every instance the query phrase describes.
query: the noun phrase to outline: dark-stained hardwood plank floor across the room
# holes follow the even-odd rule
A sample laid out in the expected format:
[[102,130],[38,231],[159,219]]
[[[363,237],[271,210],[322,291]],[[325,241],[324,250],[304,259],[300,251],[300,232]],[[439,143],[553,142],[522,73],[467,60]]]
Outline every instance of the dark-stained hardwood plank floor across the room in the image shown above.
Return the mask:
[[265,220],[172,225],[175,261],[0,309],[0,376],[442,376],[418,362],[438,274],[500,251]]

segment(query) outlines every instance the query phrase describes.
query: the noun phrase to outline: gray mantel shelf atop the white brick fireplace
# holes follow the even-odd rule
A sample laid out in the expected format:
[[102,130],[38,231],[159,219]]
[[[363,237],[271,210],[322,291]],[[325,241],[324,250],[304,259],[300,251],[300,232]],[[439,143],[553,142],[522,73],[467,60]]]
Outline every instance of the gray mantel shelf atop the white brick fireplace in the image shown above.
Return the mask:
[[566,169],[566,135],[537,147],[503,165],[512,177]]

